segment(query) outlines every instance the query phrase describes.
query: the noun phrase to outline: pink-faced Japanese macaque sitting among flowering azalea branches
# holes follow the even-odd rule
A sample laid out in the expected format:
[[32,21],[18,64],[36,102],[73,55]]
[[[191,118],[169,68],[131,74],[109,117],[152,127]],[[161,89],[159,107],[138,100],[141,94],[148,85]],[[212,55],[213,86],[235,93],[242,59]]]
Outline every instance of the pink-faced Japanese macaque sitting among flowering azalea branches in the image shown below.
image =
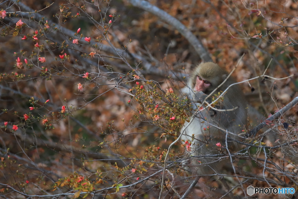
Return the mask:
[[[205,101],[202,106],[204,108],[231,84],[236,83],[234,78],[227,78],[228,75],[226,70],[215,63],[201,63],[193,70],[182,92],[194,103],[194,109]],[[247,102],[238,84],[232,85],[212,107],[197,111],[190,124],[185,122],[181,129],[181,140],[184,140],[182,144],[186,145],[186,154],[189,155],[184,164],[198,175],[221,173],[222,166],[230,162],[229,158],[221,158],[228,155],[225,131],[231,132],[228,133],[229,138],[239,140],[237,135],[243,133],[247,124]],[[227,143],[231,152],[241,148],[240,144],[231,139],[227,139]]]

